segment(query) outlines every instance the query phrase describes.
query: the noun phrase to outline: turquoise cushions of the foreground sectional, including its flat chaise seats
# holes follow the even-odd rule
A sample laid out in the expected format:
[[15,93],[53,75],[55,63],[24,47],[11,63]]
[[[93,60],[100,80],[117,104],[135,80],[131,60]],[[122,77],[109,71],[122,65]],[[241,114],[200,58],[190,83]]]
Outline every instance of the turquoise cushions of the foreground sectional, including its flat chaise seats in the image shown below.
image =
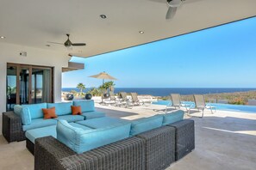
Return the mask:
[[65,119],[59,118],[57,125],[28,130],[25,136],[27,143],[32,145],[32,147],[28,147],[32,154],[34,153],[34,140],[47,136],[57,138],[59,142],[80,154],[166,124],[178,122],[183,118],[184,111],[181,110],[135,120],[102,117],[68,123]]

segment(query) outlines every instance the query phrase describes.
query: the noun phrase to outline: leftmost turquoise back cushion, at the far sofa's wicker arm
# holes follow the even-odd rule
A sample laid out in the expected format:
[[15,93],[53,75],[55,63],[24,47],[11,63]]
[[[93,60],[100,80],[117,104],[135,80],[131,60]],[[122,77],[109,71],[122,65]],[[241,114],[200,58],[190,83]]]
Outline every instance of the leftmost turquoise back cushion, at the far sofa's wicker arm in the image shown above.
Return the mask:
[[28,107],[16,105],[14,106],[14,112],[22,118],[22,124],[31,124],[31,116]]

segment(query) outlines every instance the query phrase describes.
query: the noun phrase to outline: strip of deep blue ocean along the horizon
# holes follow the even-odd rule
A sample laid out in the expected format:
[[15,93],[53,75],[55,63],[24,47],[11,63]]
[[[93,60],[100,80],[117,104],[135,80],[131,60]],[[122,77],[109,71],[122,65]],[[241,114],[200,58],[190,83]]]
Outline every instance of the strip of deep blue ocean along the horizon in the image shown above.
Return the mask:
[[[62,88],[62,91],[71,92],[79,91],[78,88]],[[86,88],[86,93],[90,88]],[[170,94],[219,94],[256,91],[256,88],[115,88],[115,94],[119,92],[136,92],[138,94],[150,94],[153,96],[167,96]]]

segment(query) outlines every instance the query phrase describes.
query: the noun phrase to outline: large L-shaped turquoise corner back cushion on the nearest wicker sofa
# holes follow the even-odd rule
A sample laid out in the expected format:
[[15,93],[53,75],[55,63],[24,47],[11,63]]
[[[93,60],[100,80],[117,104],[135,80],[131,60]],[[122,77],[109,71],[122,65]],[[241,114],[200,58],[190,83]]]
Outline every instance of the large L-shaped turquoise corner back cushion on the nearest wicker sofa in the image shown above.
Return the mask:
[[57,139],[73,151],[81,154],[129,137],[130,126],[131,124],[128,123],[84,131],[68,124],[66,120],[59,120],[57,124]]

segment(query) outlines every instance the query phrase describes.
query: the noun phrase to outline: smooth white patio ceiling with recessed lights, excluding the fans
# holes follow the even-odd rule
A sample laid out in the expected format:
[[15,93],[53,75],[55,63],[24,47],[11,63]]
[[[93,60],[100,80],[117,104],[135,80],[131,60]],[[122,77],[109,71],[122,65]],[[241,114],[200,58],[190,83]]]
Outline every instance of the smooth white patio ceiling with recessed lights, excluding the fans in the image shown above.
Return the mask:
[[[1,0],[0,42],[91,57],[255,16],[256,0],[186,0],[171,21],[166,11],[165,0]],[[47,43],[66,33],[87,46]]]

